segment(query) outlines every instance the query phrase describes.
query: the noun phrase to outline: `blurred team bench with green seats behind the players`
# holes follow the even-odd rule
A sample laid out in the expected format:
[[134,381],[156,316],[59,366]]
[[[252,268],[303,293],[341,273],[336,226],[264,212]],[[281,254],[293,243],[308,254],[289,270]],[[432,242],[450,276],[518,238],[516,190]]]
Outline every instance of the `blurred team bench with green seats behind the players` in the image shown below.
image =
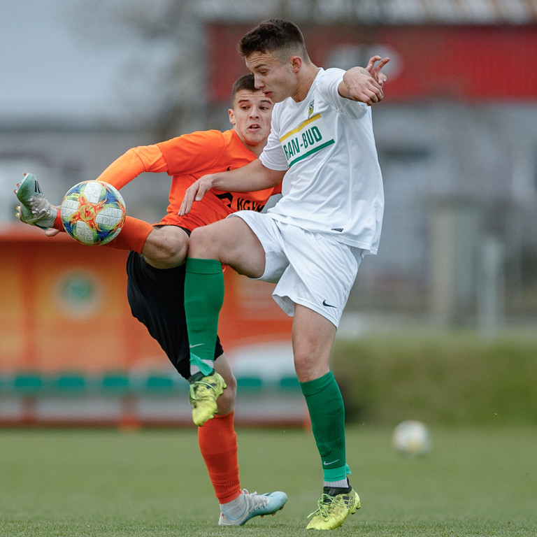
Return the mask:
[[[238,377],[238,424],[304,421],[294,377]],[[0,375],[0,425],[166,426],[191,423],[188,384],[179,375],[108,371]]]

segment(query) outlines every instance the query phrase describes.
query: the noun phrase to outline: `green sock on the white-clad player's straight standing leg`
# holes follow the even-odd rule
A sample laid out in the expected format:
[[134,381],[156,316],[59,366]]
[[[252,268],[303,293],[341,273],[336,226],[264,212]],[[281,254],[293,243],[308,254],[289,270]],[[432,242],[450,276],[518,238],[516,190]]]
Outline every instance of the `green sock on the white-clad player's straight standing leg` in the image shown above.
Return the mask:
[[325,482],[336,482],[350,473],[345,459],[345,406],[331,371],[300,383],[311,418]]

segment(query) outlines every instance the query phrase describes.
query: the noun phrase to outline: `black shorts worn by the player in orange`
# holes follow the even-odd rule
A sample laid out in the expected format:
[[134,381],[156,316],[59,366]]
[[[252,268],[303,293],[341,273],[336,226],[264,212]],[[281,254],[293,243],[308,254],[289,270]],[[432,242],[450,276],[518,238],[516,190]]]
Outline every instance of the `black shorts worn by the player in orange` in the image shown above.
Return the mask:
[[[174,268],[155,268],[147,264],[140,254],[129,252],[127,277],[127,299],[132,315],[145,324],[180,375],[189,378],[185,264]],[[222,352],[217,338],[215,359]]]

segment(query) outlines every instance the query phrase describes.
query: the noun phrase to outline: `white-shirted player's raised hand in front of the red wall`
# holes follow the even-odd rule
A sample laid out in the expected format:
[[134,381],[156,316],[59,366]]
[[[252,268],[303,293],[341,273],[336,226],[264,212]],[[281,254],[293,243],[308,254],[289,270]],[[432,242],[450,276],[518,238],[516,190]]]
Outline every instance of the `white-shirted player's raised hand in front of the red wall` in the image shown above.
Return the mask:
[[373,56],[366,67],[352,67],[343,75],[343,81],[338,86],[339,94],[346,99],[366,103],[368,106],[382,101],[384,98],[382,87],[386,82],[382,67],[388,62],[389,58]]

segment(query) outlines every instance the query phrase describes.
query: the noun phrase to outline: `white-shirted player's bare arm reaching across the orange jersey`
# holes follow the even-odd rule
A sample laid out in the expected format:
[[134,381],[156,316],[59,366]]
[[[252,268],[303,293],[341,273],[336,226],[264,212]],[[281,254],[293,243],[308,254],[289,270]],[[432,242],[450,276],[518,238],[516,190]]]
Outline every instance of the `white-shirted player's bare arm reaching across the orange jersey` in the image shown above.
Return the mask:
[[281,182],[285,171],[271,170],[255,159],[241,168],[201,176],[190,185],[182,199],[179,216],[190,212],[194,201],[200,201],[212,188],[224,192],[254,192],[275,187]]

